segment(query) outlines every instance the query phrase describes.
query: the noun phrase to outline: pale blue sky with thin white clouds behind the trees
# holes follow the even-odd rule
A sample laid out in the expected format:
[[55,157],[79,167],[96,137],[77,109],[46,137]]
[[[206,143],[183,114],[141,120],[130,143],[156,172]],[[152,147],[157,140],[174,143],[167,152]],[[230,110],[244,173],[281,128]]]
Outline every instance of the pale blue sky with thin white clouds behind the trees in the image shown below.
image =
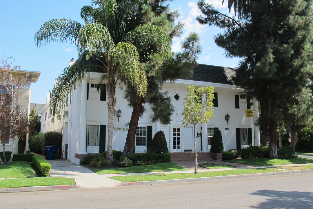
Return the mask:
[[[222,0],[207,0],[220,11],[228,13],[226,4]],[[78,58],[74,45],[67,43],[52,43],[37,48],[34,34],[44,22],[54,18],[68,18],[76,21],[80,19],[80,9],[90,5],[89,0],[1,0],[0,13],[0,58],[13,56],[15,64],[23,71],[40,71],[41,75],[36,83],[31,84],[31,102],[46,103],[46,92],[54,87],[54,80],[67,67],[71,58]],[[173,40],[172,51],[180,50],[180,42],[190,33],[200,35],[203,52],[198,63],[236,67],[238,59],[225,58],[224,50],[217,47],[213,37],[223,32],[213,26],[200,25],[195,17],[200,14],[197,1],[175,0],[170,2],[170,8],[179,10],[179,20],[185,24],[184,34]]]

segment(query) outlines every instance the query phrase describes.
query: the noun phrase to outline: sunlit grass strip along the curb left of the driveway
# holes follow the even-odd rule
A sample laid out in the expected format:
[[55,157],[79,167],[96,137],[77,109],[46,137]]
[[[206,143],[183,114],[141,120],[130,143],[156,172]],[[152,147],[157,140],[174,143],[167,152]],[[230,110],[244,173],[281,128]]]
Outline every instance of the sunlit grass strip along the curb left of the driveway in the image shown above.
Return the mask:
[[75,185],[73,178],[37,177],[0,180],[0,188],[17,188],[25,186]]

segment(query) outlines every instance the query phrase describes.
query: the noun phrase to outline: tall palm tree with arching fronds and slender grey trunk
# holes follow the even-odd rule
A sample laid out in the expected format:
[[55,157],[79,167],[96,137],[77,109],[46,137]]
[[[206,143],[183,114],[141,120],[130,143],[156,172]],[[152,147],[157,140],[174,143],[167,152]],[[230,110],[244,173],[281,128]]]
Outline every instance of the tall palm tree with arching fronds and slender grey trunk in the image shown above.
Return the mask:
[[[54,41],[75,44],[79,55],[85,53],[100,61],[106,81],[108,103],[108,145],[106,160],[112,161],[113,112],[115,107],[115,85],[119,77],[127,78],[135,87],[138,96],[146,94],[146,74],[139,61],[136,47],[131,43],[140,43],[143,48],[157,45],[164,50],[170,48],[171,39],[161,27],[143,24],[130,30],[129,25],[136,17],[139,7],[148,0],[93,0],[92,6],[81,9],[81,18],[85,25],[68,19],[52,19],[44,23],[35,34],[37,46]],[[66,68],[58,77],[51,91],[50,104],[52,114],[59,112],[65,101],[64,92],[83,77],[88,76],[91,66],[80,63]],[[65,102],[63,102],[64,104]]]

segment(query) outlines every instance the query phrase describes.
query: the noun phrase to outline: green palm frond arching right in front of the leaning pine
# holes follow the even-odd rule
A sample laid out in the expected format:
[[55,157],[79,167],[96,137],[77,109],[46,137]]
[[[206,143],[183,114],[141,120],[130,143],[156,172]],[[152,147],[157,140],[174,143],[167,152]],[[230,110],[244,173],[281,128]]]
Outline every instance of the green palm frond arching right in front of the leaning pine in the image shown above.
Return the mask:
[[146,50],[156,46],[159,50],[170,50],[172,39],[160,27],[152,24],[143,24],[128,32],[126,41],[133,43],[137,49]]

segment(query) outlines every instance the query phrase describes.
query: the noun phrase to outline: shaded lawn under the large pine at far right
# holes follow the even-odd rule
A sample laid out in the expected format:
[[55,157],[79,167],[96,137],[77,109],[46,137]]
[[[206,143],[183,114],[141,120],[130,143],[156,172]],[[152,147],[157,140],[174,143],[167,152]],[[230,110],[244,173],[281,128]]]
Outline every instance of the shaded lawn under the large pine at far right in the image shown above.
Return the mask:
[[233,159],[233,160],[225,160],[225,161],[230,162],[230,163],[239,163],[239,164],[251,165],[251,166],[313,163],[313,159],[305,159],[305,158],[295,158],[295,159],[253,158],[253,159]]

